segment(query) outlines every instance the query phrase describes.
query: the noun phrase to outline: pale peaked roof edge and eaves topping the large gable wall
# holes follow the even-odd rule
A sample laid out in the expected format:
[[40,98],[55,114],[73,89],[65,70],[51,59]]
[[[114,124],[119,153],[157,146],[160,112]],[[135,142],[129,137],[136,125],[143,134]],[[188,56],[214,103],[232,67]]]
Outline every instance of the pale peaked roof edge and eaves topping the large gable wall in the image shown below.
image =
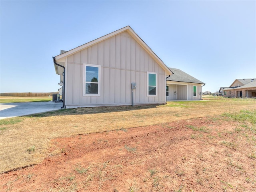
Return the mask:
[[122,33],[122,32],[125,32],[125,31],[127,31],[127,32],[140,44],[140,46],[142,46],[142,47],[146,50],[146,52],[148,52],[148,54],[150,54],[150,56],[152,56],[152,57],[156,60],[156,62],[157,62],[160,66],[162,66],[162,68],[165,70],[165,72],[166,72],[167,75],[173,74],[172,71],[164,64],[164,62],[162,62],[162,60],[161,60],[161,59],[150,49],[150,47],[134,32],[134,30],[132,30],[132,28],[131,28],[130,26],[126,26],[126,27],[124,27],[124,28],[121,28],[121,29],[119,29],[119,30],[116,30],[116,31],[114,31],[114,32],[112,32],[112,33],[109,33],[109,34],[107,34],[107,35],[105,35],[105,36],[102,36],[102,37],[100,37],[100,38],[97,38],[97,39],[95,39],[95,40],[93,40],[93,41],[90,41],[90,42],[88,42],[88,43],[86,43],[86,44],[83,44],[83,45],[81,45],[81,46],[78,46],[78,47],[76,47],[76,48],[74,48],[74,49],[72,49],[72,50],[69,50],[69,51],[67,51],[67,52],[62,52],[61,54],[55,56],[55,59],[56,59],[56,61],[58,61],[58,60],[60,60],[60,59],[62,59],[62,58],[65,58],[65,57],[71,55],[71,54],[74,54],[74,53],[76,53],[76,52],[78,52],[78,51],[80,51],[80,50],[82,50],[82,49],[85,49],[85,48],[87,48],[87,47],[89,47],[89,46],[92,46],[92,45],[94,45],[94,44],[97,44],[97,43],[99,43],[99,42],[101,42],[101,41],[104,41],[104,40],[106,40],[106,39],[108,39],[108,38],[110,38],[110,37],[112,37],[112,36],[115,36],[115,35],[117,35],[117,34],[120,34],[120,33]]

